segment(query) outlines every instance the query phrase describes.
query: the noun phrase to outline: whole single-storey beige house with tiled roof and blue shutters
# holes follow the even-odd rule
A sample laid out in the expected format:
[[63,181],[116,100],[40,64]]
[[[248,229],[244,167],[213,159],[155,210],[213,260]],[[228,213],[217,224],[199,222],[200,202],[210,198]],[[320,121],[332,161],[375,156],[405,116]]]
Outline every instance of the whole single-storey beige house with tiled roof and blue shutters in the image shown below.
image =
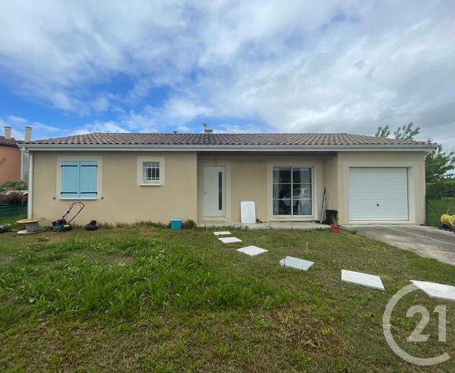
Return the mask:
[[[261,221],[424,223],[424,153],[435,145],[348,134],[91,133],[21,145],[31,154],[29,216],[83,200],[85,223]],[[33,170],[33,171],[32,171]],[[79,218],[78,218],[79,219]]]

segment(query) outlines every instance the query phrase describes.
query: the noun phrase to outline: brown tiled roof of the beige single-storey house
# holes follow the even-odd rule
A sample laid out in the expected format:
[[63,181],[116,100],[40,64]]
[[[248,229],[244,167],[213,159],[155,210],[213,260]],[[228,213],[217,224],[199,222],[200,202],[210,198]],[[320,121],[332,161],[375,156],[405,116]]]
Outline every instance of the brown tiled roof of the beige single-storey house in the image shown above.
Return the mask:
[[101,133],[26,144],[54,145],[425,145],[426,142],[348,133]]

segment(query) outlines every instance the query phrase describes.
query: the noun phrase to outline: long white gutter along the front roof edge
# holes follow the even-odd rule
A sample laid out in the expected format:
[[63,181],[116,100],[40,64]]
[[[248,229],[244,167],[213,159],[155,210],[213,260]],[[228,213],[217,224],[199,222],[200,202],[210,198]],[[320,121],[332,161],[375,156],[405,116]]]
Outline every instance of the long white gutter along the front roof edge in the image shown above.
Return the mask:
[[20,144],[24,150],[103,152],[395,152],[432,151],[437,145],[83,145],[83,144]]

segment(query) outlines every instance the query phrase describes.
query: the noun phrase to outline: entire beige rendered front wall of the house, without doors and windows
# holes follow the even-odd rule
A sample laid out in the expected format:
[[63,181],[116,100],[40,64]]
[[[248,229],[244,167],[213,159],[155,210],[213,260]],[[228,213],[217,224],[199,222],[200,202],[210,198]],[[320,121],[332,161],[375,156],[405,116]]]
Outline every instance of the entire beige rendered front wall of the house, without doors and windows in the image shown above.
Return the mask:
[[[33,159],[33,216],[48,223],[68,209],[68,200],[57,197],[57,157],[77,152],[35,152]],[[272,167],[314,167],[314,218],[319,219],[322,191],[328,191],[328,208],[339,211],[340,222],[349,224],[349,167],[407,167],[410,185],[410,222],[424,223],[424,152],[339,152],[338,157],[197,156],[196,153],[83,152],[102,156],[102,197],[85,201],[77,223],[141,220],[168,222],[173,216],[203,221],[204,164],[226,167],[227,223],[240,222],[240,201],[255,201],[257,218],[272,216]],[[163,187],[137,186],[137,157],[162,156],[166,162]],[[198,187],[199,184],[199,187]],[[299,219],[299,218],[295,218]],[[301,218],[302,219],[302,218]]]

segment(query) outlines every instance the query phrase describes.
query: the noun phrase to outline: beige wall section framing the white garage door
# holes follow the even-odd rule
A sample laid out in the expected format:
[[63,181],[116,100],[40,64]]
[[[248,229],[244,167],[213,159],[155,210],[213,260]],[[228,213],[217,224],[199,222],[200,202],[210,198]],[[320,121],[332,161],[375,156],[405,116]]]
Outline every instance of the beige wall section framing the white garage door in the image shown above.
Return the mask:
[[424,152],[339,152],[338,208],[341,224],[349,224],[349,167],[407,167],[409,221],[424,224],[425,161]]

